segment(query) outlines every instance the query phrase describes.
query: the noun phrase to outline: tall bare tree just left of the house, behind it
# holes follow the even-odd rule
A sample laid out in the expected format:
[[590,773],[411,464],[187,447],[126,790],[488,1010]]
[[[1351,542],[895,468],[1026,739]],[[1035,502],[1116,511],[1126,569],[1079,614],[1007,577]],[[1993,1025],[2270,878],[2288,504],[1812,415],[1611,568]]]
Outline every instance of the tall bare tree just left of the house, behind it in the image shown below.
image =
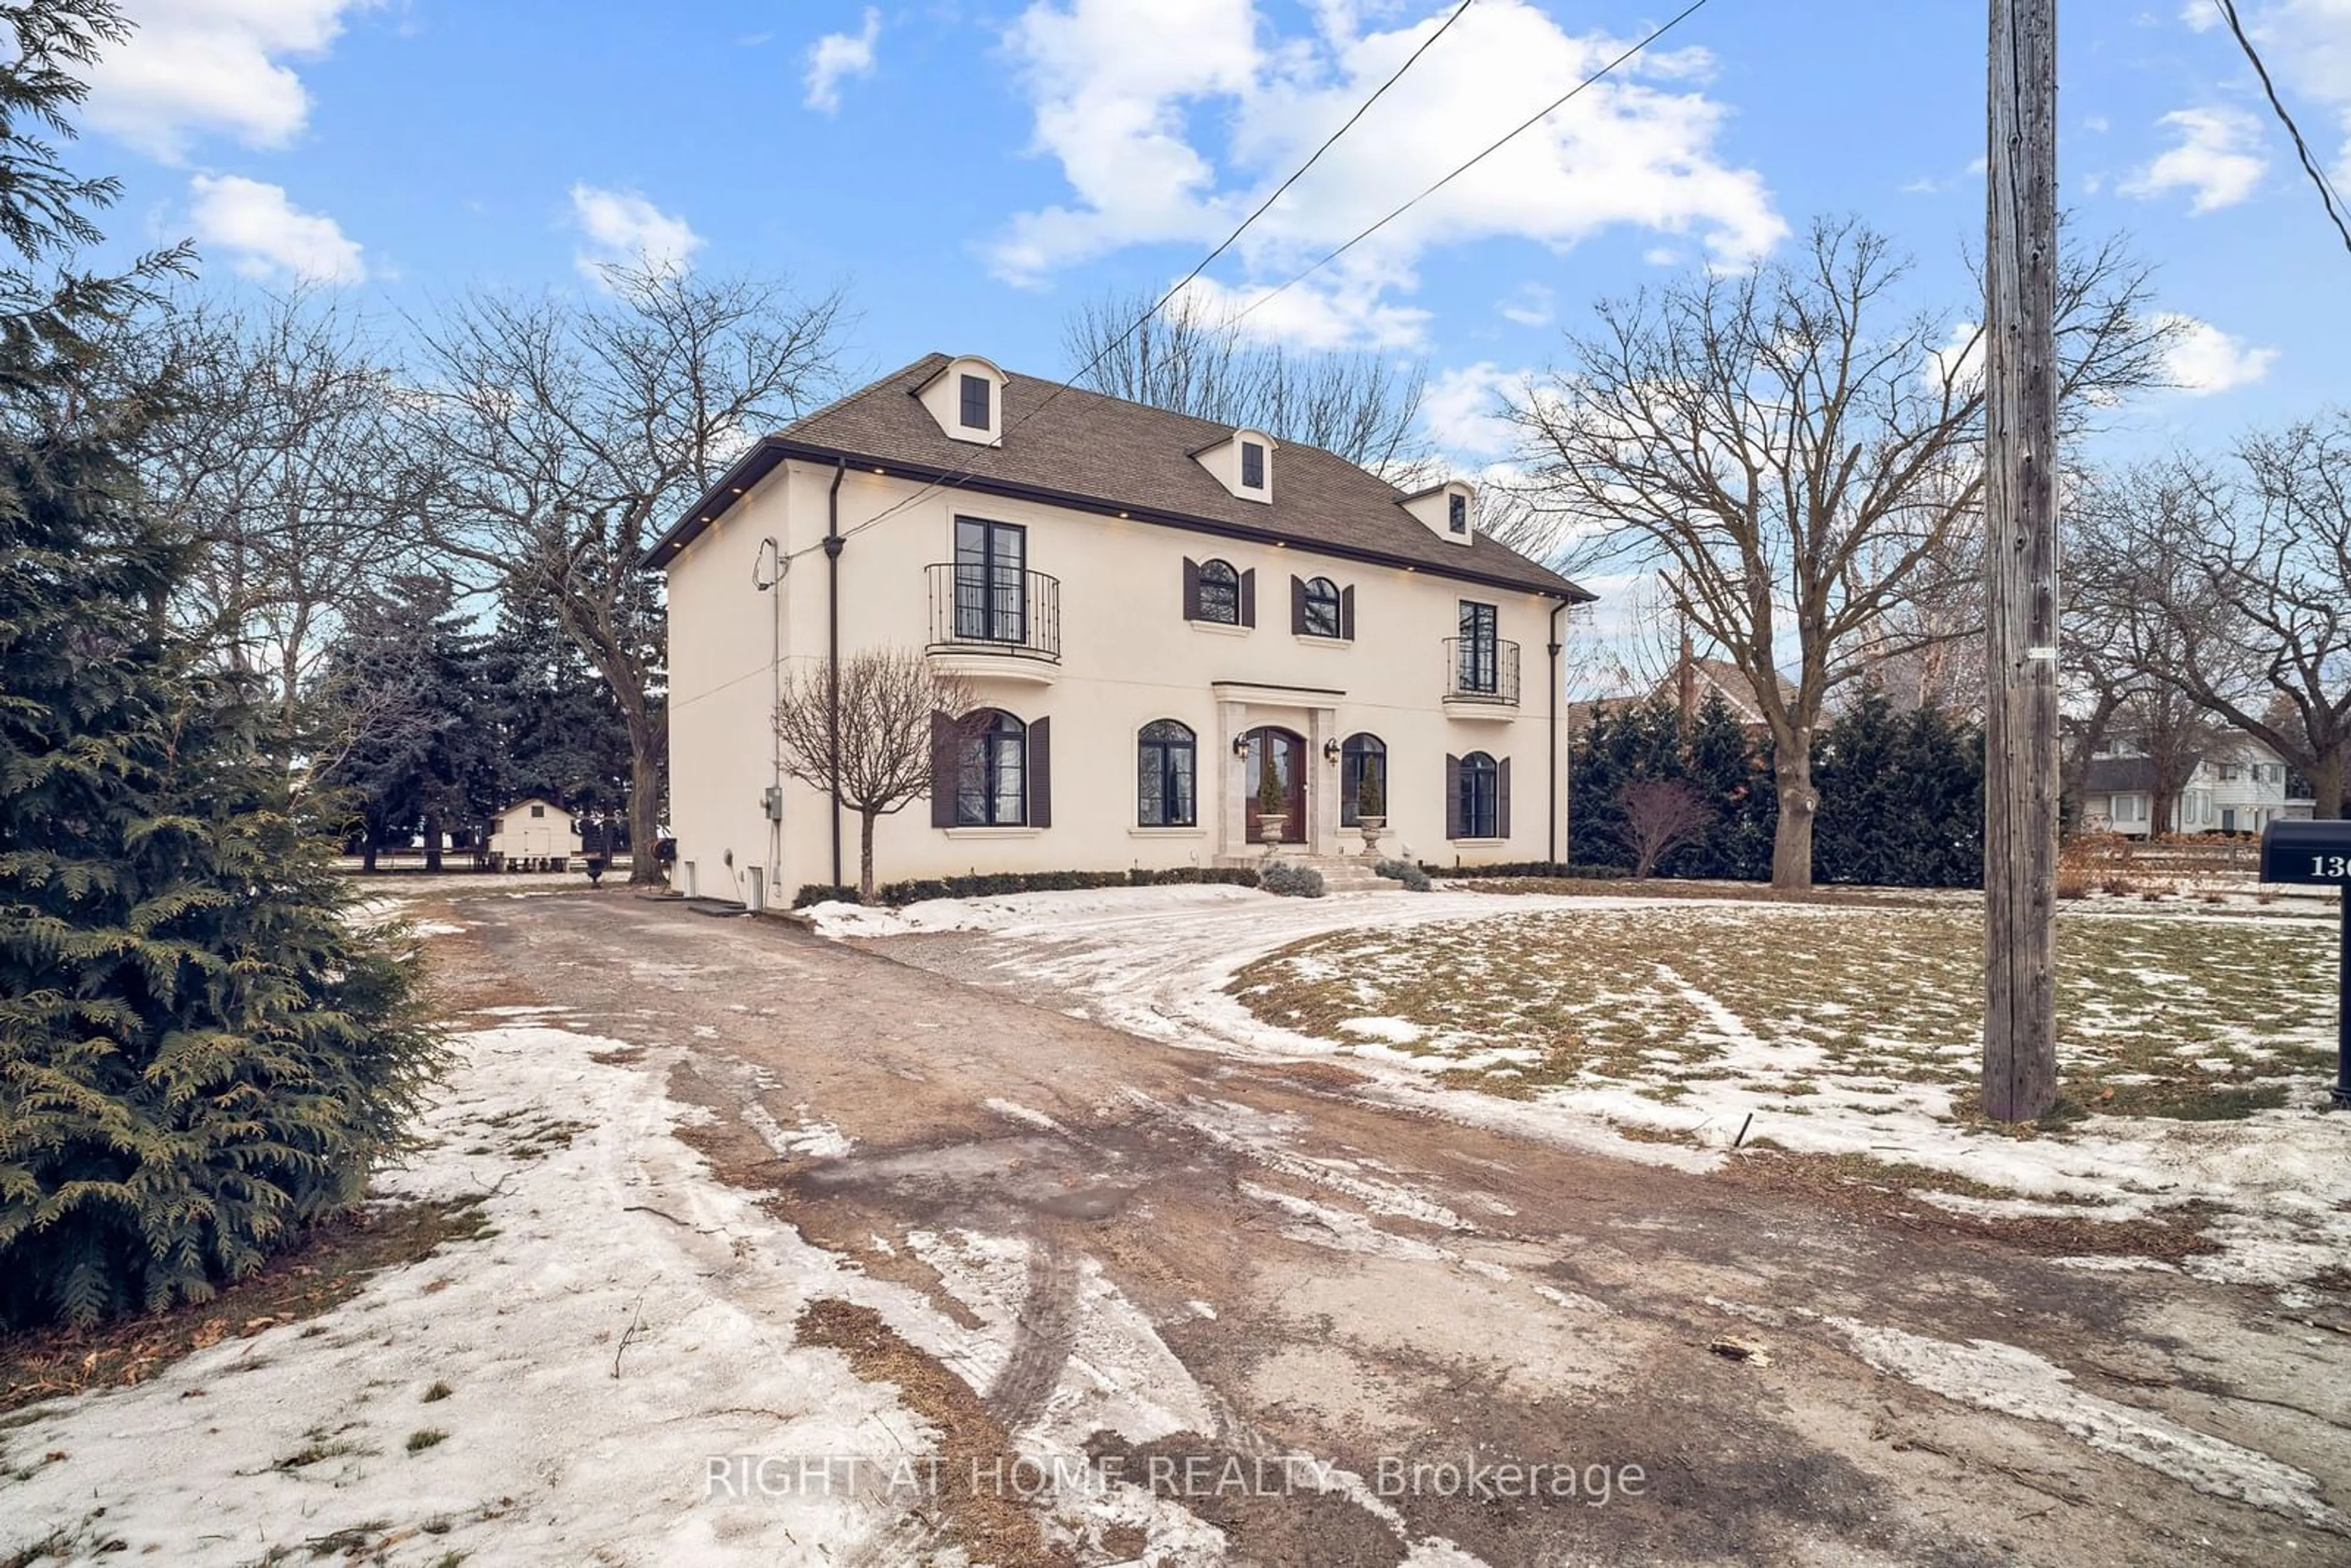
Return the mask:
[[418,324],[442,475],[437,543],[494,583],[545,595],[628,724],[630,882],[658,882],[661,585],[639,562],[762,425],[830,390],[837,296],[609,270],[602,299],[475,294]]

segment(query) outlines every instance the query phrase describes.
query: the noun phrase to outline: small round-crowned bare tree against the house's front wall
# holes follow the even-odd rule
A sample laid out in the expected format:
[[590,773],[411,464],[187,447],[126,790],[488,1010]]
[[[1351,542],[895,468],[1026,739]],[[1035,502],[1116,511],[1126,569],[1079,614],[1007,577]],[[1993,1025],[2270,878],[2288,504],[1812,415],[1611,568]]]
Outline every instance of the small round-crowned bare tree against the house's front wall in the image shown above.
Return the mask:
[[[839,780],[842,804],[858,813],[858,896],[875,896],[875,823],[931,792],[933,719],[962,719],[978,701],[955,675],[931,668],[915,649],[877,649],[842,661],[835,729],[832,665],[797,665],[776,698],[783,771],[823,790]],[[835,745],[835,736],[839,743]]]

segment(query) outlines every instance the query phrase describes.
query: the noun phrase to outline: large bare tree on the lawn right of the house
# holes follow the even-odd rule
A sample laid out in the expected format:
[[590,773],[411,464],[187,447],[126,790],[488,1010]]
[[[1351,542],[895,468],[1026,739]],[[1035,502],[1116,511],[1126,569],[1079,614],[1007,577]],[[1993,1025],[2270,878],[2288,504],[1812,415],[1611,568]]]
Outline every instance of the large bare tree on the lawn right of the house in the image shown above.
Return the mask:
[[[1907,270],[1867,226],[1815,223],[1791,263],[1601,303],[1573,369],[1512,407],[1570,559],[1669,567],[1693,628],[1754,686],[1782,889],[1813,882],[1813,733],[1831,689],[1883,656],[1871,632],[1980,515],[1980,329],[1904,315]],[[2076,416],[2156,376],[2165,327],[2144,294],[2114,247],[2069,266]]]

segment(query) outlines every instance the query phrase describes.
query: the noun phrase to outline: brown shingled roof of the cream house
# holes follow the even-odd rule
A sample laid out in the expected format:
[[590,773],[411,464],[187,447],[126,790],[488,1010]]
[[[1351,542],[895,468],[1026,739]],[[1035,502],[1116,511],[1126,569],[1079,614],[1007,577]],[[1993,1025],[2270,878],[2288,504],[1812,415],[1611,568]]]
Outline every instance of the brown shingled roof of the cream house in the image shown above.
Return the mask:
[[947,440],[915,390],[950,362],[950,355],[924,355],[762,440],[661,536],[647,564],[668,564],[783,458],[846,456],[959,489],[1124,510],[1145,522],[1277,538],[1566,599],[1592,597],[1493,538],[1476,536],[1469,545],[1439,538],[1404,510],[1401,489],[1319,447],[1279,442],[1272,503],[1241,501],[1190,456],[1232,428],[1190,414],[1079,388],[1053,397],[1053,381],[1006,376],[1004,444]]

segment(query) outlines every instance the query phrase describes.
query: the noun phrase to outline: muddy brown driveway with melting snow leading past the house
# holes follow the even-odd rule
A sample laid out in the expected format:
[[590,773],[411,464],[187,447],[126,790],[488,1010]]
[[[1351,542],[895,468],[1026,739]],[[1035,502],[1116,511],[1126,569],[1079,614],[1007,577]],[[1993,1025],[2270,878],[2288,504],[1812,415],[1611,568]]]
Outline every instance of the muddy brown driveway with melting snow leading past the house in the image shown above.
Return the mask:
[[2342,1293],[1460,1126],[776,922],[458,919],[458,983],[686,1048],[670,1093],[724,1175],[976,1331],[933,1422],[1211,1528],[1034,1561],[2351,1561]]

